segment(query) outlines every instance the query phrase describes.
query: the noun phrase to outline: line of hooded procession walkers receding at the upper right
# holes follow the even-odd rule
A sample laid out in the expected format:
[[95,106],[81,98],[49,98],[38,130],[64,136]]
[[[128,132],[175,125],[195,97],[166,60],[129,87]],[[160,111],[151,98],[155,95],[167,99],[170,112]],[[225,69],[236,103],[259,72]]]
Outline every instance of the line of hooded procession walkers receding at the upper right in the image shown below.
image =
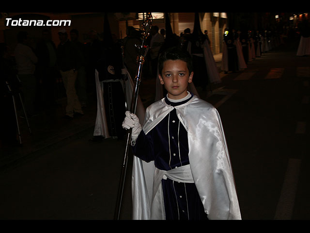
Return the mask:
[[289,43],[299,40],[297,56],[310,55],[310,22],[305,17],[297,27],[283,29],[282,33],[276,30],[240,31],[226,28],[223,37],[221,70],[225,73],[247,68],[249,62],[284,44],[284,37]]

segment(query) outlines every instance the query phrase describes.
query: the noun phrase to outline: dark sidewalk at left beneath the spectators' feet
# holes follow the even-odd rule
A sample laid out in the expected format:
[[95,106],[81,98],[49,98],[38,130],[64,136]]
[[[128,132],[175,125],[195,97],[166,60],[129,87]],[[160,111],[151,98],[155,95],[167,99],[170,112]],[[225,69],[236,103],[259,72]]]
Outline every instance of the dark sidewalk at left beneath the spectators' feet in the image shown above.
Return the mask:
[[[222,54],[216,54],[214,58],[217,67],[220,67]],[[33,116],[29,120],[31,133],[26,119],[19,117],[22,144],[10,147],[2,145],[0,147],[0,170],[29,155],[35,155],[40,150],[47,149],[56,143],[66,143],[66,140],[77,137],[78,133],[93,128],[97,114],[95,94],[91,93],[89,99],[90,104],[83,109],[84,115],[72,120],[64,118],[66,98],[58,100],[57,106],[41,111],[38,116]],[[150,101],[149,97],[145,99]],[[17,140],[19,142],[18,137]]]

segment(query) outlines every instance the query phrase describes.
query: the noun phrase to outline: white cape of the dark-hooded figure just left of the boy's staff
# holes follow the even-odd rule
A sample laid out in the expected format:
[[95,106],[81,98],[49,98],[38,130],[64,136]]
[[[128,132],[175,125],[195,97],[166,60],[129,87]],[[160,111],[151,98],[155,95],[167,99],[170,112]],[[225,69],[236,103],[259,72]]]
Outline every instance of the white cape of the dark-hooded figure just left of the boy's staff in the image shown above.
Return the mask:
[[[127,69],[126,69],[126,72],[127,72],[127,76],[128,76],[128,79],[126,80],[126,83],[125,83],[125,86],[126,86],[126,108],[127,108],[127,110],[130,110],[134,83],[133,83]],[[106,116],[104,97],[103,97],[104,82],[99,81],[97,70],[95,71],[95,82],[96,82],[96,91],[97,91],[97,115],[96,115],[96,121],[95,121],[93,136],[104,136],[105,138],[109,138],[111,136],[109,135],[109,128],[108,128],[108,123],[107,123],[107,116]],[[120,80],[119,82],[122,83],[122,87],[124,90],[124,81]],[[143,103],[142,103],[140,97],[138,97],[136,115],[139,117],[139,119],[141,119],[140,123],[143,123],[143,119],[145,116],[145,108],[143,106]]]

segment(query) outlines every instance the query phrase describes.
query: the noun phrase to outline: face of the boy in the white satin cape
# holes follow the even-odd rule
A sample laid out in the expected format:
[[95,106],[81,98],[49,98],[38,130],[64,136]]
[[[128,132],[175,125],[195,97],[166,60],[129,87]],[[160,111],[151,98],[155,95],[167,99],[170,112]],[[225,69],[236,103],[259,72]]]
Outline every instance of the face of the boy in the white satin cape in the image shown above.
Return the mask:
[[193,72],[189,73],[186,62],[181,60],[167,60],[164,62],[159,80],[164,84],[168,97],[179,100],[187,95],[187,85],[193,79]]

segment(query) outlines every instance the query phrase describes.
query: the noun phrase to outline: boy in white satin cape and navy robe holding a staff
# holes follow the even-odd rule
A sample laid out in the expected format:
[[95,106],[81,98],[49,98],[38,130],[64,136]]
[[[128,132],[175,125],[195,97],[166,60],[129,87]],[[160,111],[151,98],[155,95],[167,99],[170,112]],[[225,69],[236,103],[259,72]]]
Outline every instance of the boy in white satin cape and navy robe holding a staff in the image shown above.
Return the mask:
[[166,98],[132,128],[133,219],[241,219],[225,136],[217,110],[187,92],[191,57],[171,48],[158,60]]

